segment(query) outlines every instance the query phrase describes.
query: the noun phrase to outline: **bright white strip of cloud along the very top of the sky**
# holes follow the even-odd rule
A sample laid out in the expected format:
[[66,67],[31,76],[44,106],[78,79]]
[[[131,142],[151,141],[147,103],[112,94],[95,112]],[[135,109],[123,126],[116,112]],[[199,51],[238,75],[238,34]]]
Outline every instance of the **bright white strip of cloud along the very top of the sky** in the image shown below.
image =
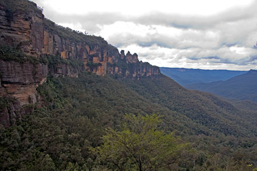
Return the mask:
[[172,14],[211,15],[232,7],[244,7],[252,0],[130,0],[121,3],[119,0],[33,0],[41,7],[53,8],[61,14],[87,14],[88,12],[121,12],[130,16],[138,16],[148,12],[164,12]]

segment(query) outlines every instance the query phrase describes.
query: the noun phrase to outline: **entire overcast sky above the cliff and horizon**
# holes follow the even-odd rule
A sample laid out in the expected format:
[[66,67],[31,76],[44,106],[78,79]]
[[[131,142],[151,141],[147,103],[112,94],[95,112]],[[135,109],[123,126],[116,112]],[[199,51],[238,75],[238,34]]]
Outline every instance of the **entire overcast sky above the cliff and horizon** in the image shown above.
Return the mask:
[[256,0],[33,0],[51,21],[156,66],[257,69]]

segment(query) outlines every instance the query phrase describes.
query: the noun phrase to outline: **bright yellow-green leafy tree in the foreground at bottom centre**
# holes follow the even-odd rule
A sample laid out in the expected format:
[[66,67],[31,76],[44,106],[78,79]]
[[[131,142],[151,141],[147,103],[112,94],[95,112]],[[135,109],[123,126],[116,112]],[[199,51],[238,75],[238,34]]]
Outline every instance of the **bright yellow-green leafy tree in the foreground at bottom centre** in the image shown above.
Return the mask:
[[103,136],[103,145],[95,148],[99,158],[109,168],[119,170],[157,170],[173,163],[184,144],[172,133],[158,131],[160,116],[127,115],[122,131],[108,129]]

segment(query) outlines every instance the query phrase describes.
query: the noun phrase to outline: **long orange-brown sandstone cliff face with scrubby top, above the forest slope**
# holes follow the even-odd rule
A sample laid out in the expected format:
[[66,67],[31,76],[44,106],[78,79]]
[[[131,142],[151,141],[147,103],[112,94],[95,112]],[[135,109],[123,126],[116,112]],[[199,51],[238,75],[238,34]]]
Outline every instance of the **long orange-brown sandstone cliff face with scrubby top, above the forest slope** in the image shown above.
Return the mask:
[[[101,76],[160,78],[159,68],[139,62],[136,53],[119,53],[103,38],[58,26],[44,18],[36,4],[30,1],[0,2],[0,45],[15,47],[36,58],[52,57],[55,61],[54,57],[60,56],[64,59],[64,62],[32,64],[0,57],[0,96],[16,99],[15,105],[9,104],[13,107],[2,109],[0,119],[12,120],[12,110],[20,111],[21,106],[36,103],[36,88],[47,75],[78,77],[79,72],[86,70]],[[78,62],[82,65],[77,65]]]

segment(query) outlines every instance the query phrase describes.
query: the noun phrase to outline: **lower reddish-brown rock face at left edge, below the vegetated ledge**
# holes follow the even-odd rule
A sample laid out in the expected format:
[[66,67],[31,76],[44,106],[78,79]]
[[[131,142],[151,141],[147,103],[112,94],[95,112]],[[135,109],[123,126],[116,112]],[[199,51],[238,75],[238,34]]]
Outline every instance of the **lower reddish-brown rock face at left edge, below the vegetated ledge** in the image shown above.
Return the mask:
[[40,98],[36,88],[46,81],[48,70],[45,64],[0,60],[0,73],[0,98],[6,101],[5,106],[0,107],[0,123],[9,127],[20,120],[22,114],[31,113]]

